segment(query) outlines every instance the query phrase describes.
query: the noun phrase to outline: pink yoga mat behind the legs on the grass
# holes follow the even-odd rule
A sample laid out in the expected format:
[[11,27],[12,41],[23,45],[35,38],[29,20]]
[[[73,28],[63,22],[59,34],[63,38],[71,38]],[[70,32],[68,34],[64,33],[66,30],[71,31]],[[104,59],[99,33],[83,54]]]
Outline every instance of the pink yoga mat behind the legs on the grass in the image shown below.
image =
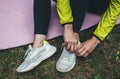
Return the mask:
[[[81,30],[97,24],[100,19],[100,16],[88,13]],[[47,39],[62,34],[63,27],[59,23],[55,3],[52,2]],[[32,43],[33,36],[33,0],[0,0],[0,50]]]

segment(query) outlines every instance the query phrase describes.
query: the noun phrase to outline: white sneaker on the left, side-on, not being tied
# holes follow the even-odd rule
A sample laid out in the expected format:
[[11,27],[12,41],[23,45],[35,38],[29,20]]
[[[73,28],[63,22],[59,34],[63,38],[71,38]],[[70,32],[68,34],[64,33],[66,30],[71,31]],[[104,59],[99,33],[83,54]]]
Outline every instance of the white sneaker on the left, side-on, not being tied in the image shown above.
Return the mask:
[[24,62],[16,69],[17,72],[27,72],[39,65],[43,60],[49,58],[56,52],[56,47],[45,44],[41,48],[32,48],[29,45]]

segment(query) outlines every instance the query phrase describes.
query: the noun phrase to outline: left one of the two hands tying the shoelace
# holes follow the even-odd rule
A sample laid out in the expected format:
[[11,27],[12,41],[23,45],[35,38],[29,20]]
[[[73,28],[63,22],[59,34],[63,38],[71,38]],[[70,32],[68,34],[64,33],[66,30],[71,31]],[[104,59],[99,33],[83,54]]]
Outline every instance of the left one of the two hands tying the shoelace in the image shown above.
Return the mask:
[[77,49],[79,36],[73,32],[72,24],[66,24],[64,26],[64,43],[69,51],[75,51]]

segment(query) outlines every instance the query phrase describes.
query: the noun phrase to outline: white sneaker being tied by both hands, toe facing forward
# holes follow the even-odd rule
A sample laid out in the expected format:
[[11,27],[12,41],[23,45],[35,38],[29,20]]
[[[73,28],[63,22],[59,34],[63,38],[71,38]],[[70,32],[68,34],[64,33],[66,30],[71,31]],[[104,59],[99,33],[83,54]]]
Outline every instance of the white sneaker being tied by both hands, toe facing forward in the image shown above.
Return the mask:
[[56,63],[56,69],[59,72],[68,72],[73,69],[76,64],[76,55],[69,52],[66,47],[63,48],[62,54]]

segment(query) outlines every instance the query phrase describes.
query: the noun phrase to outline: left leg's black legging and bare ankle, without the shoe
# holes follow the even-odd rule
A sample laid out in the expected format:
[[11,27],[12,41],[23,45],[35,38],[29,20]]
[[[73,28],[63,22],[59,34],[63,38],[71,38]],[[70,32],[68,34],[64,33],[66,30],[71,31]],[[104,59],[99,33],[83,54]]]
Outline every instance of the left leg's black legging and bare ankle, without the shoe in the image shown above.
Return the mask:
[[34,27],[35,37],[33,48],[43,45],[46,39],[51,15],[50,0],[34,0]]

